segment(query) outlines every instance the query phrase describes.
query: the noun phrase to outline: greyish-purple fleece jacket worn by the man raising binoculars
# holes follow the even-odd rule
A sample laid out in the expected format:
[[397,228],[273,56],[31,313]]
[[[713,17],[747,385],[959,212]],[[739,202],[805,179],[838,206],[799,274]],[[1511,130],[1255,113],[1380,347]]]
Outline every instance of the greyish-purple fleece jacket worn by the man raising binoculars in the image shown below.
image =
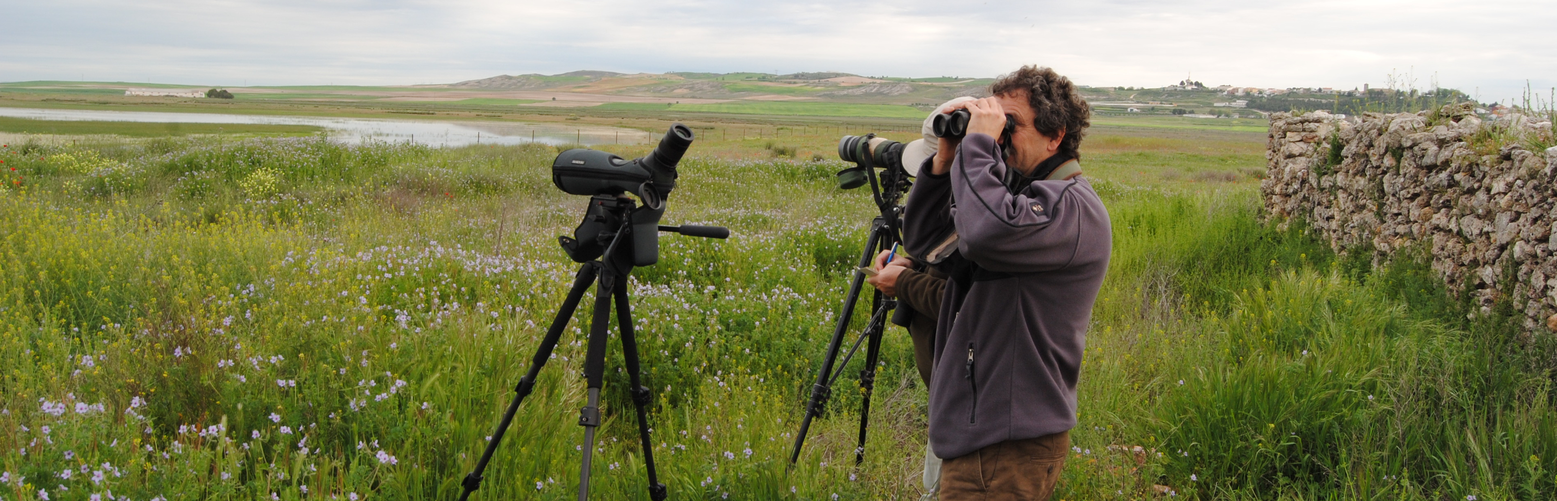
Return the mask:
[[1081,176],[1012,194],[1004,174],[995,138],[968,134],[947,174],[922,168],[903,215],[909,254],[931,255],[954,230],[961,257],[984,269],[951,272],[940,302],[930,381],[939,457],[1076,426],[1087,324],[1113,244],[1109,212]]

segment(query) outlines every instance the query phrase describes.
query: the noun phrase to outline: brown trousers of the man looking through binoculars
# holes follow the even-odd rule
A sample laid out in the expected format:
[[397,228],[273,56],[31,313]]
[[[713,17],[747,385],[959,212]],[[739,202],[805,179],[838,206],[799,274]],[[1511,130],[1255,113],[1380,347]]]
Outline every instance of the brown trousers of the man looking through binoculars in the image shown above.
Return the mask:
[[1006,440],[940,464],[940,501],[1037,499],[1054,495],[1070,431]]

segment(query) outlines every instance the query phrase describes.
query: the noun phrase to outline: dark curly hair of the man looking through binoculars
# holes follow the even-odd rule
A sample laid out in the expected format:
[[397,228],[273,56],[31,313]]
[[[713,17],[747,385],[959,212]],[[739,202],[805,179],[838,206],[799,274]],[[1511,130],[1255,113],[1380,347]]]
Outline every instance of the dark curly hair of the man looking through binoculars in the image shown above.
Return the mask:
[[1053,137],[1063,131],[1059,152],[1071,159],[1081,159],[1081,138],[1087,135],[1091,124],[1091,106],[1076,92],[1076,84],[1048,67],[1025,65],[1017,72],[1001,75],[989,84],[990,95],[1009,95],[1028,92],[1028,106],[1032,106],[1032,128]]

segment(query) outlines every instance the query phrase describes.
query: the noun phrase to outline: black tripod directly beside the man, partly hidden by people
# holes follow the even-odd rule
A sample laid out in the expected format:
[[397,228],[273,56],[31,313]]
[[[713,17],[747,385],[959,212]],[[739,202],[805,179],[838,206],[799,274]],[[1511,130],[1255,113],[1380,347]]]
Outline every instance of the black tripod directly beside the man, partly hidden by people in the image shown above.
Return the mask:
[[[898,201],[908,190],[909,182],[908,173],[903,171],[902,165],[887,166],[881,173],[880,180],[869,163],[861,162],[859,168],[866,171],[877,208],[881,212],[881,215],[870,221],[870,235],[866,236],[864,252],[859,255],[859,268],[864,268],[870,266],[872,258],[878,252],[887,250],[892,244],[903,241],[902,230],[898,229],[903,205]],[[859,338],[855,339],[849,353],[844,355],[844,359],[838,361],[838,352],[842,349],[849,322],[855,316],[855,307],[859,302],[859,291],[864,282],[864,272],[855,271],[855,277],[849,283],[849,294],[844,297],[842,313],[838,314],[838,324],[833,327],[833,339],[828,341],[827,355],[822,356],[822,367],[816,373],[816,384],[811,384],[811,397],[805,403],[805,417],[800,419],[800,433],[796,434],[794,450],[789,453],[789,467],[794,467],[800,461],[800,447],[805,445],[805,434],[811,429],[811,420],[821,417],[825,411],[827,401],[833,395],[833,384],[844,375],[844,367],[859,352],[861,344],[866,345],[866,367],[859,370],[859,387],[863,392],[855,465],[866,461],[866,431],[870,426],[870,394],[875,391],[877,364],[881,358],[881,333],[886,330],[887,313],[897,308],[897,299],[884,297],[881,291],[872,289],[870,308],[873,313],[870,314],[870,321],[866,324],[864,331],[859,333]]]

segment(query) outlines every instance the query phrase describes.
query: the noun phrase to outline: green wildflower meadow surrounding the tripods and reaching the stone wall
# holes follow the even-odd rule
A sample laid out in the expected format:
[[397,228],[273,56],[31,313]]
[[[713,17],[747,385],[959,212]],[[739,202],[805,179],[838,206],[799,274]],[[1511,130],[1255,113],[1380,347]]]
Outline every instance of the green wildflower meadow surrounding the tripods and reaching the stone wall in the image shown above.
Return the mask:
[[[836,135],[768,126],[696,129],[665,224],[732,236],[663,235],[634,271],[660,478],[673,499],[916,498],[926,397],[895,327],[866,464],[844,380],[785,470],[873,205],[833,185]],[[1263,134],[1157,131],[1084,143],[1115,249],[1056,499],[1557,492],[1549,339],[1467,319],[1420,257],[1375,271],[1263,224]],[[578,269],[556,152],[0,146],[0,499],[452,499]],[[585,311],[476,499],[575,496]],[[592,493],[648,499],[617,342]]]

